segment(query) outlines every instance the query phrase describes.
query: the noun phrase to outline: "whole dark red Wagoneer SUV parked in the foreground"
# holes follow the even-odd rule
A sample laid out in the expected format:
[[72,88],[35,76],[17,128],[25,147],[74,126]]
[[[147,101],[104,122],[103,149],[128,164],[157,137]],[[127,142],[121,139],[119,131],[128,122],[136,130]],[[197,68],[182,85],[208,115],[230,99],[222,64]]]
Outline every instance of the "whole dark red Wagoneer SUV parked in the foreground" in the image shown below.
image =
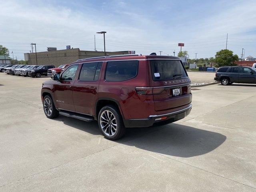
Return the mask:
[[180,120],[190,113],[190,79],[178,57],[121,55],[80,59],[42,85],[44,113],[98,120],[102,134]]

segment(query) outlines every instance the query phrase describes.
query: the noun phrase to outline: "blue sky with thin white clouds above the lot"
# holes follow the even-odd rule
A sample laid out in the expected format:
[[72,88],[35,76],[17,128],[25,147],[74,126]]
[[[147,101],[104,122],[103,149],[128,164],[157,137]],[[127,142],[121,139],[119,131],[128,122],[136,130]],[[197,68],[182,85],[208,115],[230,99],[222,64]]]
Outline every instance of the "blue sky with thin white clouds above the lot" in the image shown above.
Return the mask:
[[[94,34],[107,31],[106,50],[135,50],[173,55],[185,46],[190,58],[212,57],[226,48],[235,54],[256,57],[255,0],[237,1],[59,1],[0,0],[0,44],[24,59],[37,44],[46,47],[94,50]],[[4,26],[4,27],[2,27]],[[96,34],[102,51],[103,36]]]

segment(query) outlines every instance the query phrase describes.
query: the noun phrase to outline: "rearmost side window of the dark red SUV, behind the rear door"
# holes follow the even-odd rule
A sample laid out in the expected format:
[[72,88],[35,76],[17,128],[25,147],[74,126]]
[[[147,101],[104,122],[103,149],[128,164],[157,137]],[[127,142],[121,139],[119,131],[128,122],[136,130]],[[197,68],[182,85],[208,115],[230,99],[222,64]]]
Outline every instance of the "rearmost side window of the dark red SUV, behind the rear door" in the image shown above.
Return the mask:
[[137,76],[138,60],[110,61],[106,67],[106,81],[125,81]]

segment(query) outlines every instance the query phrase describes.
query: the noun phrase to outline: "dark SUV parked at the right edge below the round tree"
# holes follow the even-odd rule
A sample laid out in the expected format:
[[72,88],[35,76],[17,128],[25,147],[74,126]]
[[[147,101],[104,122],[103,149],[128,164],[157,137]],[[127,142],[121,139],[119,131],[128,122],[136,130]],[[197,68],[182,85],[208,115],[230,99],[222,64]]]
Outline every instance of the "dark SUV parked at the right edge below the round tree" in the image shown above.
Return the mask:
[[224,66],[219,68],[214,80],[220,81],[222,85],[232,83],[256,83],[256,70],[251,67]]

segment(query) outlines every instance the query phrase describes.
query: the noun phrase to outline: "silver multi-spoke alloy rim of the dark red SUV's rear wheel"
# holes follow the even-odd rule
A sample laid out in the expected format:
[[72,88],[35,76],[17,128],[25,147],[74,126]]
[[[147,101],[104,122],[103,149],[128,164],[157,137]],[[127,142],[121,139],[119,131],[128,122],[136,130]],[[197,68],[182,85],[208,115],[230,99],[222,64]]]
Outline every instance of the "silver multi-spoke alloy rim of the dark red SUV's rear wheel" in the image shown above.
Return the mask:
[[102,112],[100,115],[100,127],[107,136],[114,136],[116,134],[116,117],[111,111],[105,110]]

